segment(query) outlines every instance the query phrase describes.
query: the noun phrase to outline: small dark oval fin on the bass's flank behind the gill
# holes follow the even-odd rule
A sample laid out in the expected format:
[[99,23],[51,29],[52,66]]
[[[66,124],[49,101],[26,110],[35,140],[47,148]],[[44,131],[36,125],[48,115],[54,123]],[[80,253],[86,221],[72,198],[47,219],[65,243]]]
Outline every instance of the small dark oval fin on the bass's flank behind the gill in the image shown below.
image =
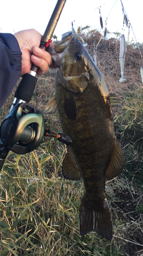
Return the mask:
[[75,120],[77,114],[77,106],[75,97],[72,92],[68,92],[68,94],[64,95],[64,111],[70,120]]

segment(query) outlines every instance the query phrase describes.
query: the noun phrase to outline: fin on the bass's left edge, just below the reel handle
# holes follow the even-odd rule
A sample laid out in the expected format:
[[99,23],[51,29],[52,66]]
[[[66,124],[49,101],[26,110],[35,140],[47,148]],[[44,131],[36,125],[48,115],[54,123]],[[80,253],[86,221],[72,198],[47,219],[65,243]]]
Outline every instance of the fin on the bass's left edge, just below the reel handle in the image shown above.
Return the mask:
[[68,180],[82,179],[80,175],[80,170],[77,168],[69,149],[63,161],[62,173],[64,178]]

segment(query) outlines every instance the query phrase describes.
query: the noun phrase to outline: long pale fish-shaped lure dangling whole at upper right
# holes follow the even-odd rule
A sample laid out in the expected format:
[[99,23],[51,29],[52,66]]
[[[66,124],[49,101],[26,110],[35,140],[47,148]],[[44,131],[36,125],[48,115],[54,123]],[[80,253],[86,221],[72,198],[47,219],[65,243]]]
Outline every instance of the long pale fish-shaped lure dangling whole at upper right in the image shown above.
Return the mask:
[[122,35],[120,39],[120,66],[121,66],[121,78],[119,79],[120,82],[126,81],[126,76],[124,76],[124,63],[125,63],[125,54],[126,54],[126,41],[125,41],[125,36]]

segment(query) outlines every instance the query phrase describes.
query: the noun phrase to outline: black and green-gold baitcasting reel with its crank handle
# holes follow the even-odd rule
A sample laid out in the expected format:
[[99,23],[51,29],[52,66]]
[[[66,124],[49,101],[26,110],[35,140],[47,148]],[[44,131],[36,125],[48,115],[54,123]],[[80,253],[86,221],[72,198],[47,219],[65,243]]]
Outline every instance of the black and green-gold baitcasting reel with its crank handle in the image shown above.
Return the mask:
[[70,145],[71,138],[45,129],[45,119],[41,111],[29,103],[18,103],[4,119],[0,127],[0,170],[9,151],[23,155],[34,151],[43,136],[55,137]]

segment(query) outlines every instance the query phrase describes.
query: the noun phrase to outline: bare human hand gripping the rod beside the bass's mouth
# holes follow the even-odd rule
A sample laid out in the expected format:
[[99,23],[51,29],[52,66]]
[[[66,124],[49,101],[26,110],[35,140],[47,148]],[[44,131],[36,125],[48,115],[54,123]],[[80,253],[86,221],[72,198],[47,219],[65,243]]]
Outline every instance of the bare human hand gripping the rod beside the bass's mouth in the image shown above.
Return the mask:
[[[20,51],[22,52],[22,70],[21,76],[31,70],[32,62],[39,67],[38,75],[44,74],[52,64],[51,56],[48,52],[39,48],[42,35],[35,29],[19,31],[14,34],[16,37]],[[54,46],[53,42],[50,47]],[[58,67],[58,66],[57,66]]]

